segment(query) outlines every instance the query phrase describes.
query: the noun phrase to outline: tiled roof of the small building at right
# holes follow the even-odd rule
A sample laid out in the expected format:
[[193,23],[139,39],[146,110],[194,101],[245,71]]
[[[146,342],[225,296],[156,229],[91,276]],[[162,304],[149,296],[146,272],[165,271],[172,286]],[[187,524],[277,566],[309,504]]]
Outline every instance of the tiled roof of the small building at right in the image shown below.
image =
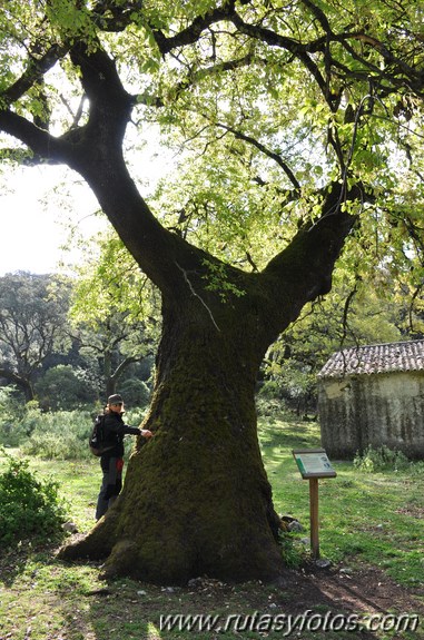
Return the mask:
[[424,339],[351,347],[332,355],[319,377],[424,371]]

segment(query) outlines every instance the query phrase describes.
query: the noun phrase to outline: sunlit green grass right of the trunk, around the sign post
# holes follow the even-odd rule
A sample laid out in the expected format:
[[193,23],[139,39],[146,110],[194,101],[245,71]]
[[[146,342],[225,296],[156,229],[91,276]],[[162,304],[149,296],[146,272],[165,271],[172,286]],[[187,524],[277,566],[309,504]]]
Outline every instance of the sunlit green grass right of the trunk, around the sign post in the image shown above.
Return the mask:
[[[309,534],[309,488],[292,449],[319,446],[312,423],[262,425],[259,439],[274,502]],[[365,473],[332,461],[337,477],[319,480],[319,548],[333,562],[368,562],[405,585],[424,584],[424,472]],[[305,533],[297,534],[305,538]]]

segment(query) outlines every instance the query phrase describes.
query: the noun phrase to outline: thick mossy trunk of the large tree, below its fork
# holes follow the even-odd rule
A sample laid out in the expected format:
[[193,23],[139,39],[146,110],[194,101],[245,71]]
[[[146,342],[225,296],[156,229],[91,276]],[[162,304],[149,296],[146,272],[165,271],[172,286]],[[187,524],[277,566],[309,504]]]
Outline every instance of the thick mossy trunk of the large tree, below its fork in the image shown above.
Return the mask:
[[[159,583],[201,574],[276,578],[283,570],[278,516],[254,403],[263,355],[252,331],[257,312],[213,318],[197,299],[186,308],[164,307],[156,390],[144,424],[155,437],[139,443],[106,518],[61,557],[107,555],[107,575]],[[215,322],[224,321],[218,329]]]

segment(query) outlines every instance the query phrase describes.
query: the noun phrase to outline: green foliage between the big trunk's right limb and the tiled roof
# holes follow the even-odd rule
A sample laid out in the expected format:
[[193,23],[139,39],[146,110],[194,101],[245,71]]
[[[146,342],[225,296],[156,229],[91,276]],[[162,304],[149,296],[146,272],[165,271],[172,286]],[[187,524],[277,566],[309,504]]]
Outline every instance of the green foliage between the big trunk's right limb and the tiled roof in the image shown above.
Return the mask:
[[316,415],[317,373],[332,353],[416,337],[405,323],[410,299],[384,268],[373,275],[355,274],[346,252],[332,292],[305,305],[297,321],[269,347],[259,395],[283,401],[298,415]]

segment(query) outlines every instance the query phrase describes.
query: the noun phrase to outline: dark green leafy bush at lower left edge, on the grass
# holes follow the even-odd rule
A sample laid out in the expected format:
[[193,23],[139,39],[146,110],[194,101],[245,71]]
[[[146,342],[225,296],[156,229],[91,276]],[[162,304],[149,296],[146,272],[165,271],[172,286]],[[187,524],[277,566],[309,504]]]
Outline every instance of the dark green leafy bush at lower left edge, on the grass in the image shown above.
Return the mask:
[[66,511],[58,484],[37,480],[28,470],[28,460],[16,459],[4,450],[0,452],[8,462],[0,474],[0,547],[59,534]]

